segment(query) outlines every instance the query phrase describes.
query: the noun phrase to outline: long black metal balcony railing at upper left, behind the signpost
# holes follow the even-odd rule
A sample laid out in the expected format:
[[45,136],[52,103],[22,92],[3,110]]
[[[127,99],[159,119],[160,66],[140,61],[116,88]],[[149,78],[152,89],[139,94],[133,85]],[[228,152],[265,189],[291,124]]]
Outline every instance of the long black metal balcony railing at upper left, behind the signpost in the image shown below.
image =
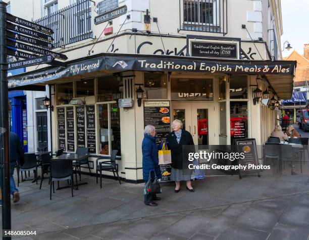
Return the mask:
[[55,48],[91,38],[91,1],[82,0],[34,22],[53,29]]

